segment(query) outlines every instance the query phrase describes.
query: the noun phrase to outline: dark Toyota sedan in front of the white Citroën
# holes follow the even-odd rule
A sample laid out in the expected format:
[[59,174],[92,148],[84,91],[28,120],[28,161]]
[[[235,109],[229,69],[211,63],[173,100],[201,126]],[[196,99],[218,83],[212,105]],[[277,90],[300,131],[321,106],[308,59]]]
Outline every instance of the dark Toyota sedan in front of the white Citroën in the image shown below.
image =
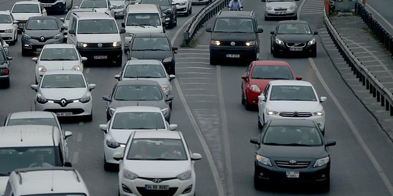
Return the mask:
[[321,191],[330,189],[330,156],[325,140],[315,122],[310,120],[272,120],[266,123],[255,152],[254,187],[267,182],[310,182]]

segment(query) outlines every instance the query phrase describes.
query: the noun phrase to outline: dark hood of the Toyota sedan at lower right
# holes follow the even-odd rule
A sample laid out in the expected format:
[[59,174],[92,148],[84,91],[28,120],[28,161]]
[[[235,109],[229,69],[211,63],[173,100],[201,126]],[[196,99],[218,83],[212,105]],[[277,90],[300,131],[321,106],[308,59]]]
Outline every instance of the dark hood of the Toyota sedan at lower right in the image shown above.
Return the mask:
[[273,160],[274,158],[323,158],[328,155],[324,146],[261,145],[257,153]]

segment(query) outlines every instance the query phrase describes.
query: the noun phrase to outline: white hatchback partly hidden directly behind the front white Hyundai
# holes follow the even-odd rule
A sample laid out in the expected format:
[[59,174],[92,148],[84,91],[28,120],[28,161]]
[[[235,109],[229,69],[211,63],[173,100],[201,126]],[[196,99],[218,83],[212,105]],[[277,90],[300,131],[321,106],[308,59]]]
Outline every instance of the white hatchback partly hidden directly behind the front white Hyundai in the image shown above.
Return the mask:
[[177,125],[167,123],[159,107],[125,106],[116,108],[107,124],[99,125],[104,136],[104,169],[110,170],[119,162],[113,159],[115,152],[123,152],[133,131],[176,130]]

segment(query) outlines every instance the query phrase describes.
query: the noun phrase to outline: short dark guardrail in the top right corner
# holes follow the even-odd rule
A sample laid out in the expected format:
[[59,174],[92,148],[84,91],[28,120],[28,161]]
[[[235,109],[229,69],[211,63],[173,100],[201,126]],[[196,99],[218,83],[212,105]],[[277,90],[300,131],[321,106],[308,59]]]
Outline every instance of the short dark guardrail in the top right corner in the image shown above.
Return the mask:
[[365,9],[363,4],[356,2],[355,13],[358,14],[363,22],[373,31],[380,42],[385,45],[387,50],[393,56],[393,35],[391,35],[381,24],[374,18],[374,16]]

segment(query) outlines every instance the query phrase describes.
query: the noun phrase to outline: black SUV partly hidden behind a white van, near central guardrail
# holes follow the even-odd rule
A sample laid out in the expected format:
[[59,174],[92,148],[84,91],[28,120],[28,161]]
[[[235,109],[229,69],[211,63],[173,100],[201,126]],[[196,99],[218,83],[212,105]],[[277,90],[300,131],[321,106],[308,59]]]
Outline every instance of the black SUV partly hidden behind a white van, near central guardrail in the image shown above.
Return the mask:
[[172,2],[172,0],[141,0],[140,4],[160,5],[165,25],[169,28],[177,25],[176,3]]

